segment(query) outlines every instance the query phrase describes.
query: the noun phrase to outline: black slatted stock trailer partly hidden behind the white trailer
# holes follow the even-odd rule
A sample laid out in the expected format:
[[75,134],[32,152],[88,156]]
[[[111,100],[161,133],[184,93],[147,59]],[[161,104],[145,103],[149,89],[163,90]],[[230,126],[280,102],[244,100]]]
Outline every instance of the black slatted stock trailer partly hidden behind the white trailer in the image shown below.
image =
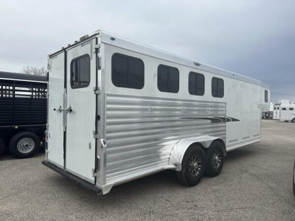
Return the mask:
[[46,130],[47,78],[0,72],[0,155],[33,156]]

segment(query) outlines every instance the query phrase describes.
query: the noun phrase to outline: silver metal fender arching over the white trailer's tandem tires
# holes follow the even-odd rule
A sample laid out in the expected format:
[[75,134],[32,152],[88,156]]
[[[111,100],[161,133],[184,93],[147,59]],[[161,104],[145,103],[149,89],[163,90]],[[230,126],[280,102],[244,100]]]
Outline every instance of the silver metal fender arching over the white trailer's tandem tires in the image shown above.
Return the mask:
[[220,140],[223,143],[223,147],[224,147],[223,152],[224,152],[224,156],[226,156],[226,148],[222,138],[212,137],[212,136],[185,138],[185,139],[180,139],[172,148],[170,157],[169,157],[169,165],[176,166],[175,170],[180,171],[181,162],[182,162],[184,153],[190,145],[196,143],[201,145],[203,148],[209,148],[209,146],[214,140]]

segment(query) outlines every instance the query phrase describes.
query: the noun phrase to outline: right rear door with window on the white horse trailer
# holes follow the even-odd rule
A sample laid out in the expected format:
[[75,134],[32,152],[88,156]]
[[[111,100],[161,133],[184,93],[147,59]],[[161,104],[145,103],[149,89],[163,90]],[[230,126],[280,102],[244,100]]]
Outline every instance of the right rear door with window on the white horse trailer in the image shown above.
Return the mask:
[[67,51],[65,169],[95,182],[96,38]]

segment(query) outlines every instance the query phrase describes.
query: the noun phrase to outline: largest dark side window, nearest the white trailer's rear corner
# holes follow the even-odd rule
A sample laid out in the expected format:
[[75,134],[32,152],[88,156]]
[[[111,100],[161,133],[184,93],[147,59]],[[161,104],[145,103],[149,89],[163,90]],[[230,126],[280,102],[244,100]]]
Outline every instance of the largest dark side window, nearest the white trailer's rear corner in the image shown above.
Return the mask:
[[143,60],[122,54],[112,56],[112,82],[117,87],[142,89],[145,84]]

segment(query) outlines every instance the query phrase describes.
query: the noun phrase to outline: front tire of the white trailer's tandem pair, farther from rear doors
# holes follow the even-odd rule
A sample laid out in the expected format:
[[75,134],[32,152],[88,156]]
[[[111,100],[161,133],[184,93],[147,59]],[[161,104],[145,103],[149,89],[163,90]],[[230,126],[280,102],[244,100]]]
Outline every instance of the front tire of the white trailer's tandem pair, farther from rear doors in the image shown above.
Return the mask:
[[206,151],[206,175],[214,177],[219,175],[224,164],[223,145],[219,141],[213,141]]

